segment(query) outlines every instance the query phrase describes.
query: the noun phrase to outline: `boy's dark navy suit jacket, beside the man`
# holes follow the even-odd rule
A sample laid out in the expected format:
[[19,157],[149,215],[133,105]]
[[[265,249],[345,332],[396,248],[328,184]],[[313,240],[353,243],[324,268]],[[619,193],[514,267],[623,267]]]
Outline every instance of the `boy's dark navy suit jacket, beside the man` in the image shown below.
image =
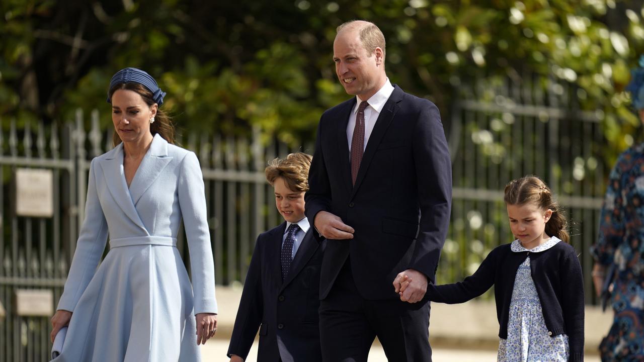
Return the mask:
[[286,222],[260,234],[252,253],[228,355],[248,356],[260,330],[258,362],[322,361],[319,343],[319,272],[325,240],[313,227],[299,245],[286,280],[281,280]]

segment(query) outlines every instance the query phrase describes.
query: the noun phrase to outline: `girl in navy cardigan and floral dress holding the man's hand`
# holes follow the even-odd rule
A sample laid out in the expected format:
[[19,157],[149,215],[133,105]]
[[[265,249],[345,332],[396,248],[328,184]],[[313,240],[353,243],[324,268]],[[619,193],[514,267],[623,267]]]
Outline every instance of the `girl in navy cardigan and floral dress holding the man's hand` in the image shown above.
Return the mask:
[[[495,286],[498,361],[583,361],[583,278],[565,216],[535,176],[507,184],[516,240],[496,247],[464,281],[428,285],[439,303],[464,303]],[[408,279],[403,282],[403,287]]]

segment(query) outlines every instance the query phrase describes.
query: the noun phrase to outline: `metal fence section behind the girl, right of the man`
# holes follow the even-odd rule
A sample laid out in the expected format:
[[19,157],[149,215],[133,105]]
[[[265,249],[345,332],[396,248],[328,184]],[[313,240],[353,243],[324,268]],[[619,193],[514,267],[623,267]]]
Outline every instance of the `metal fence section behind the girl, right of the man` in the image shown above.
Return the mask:
[[481,79],[462,86],[451,112],[453,207],[438,279],[461,280],[488,252],[511,242],[503,189],[540,176],[570,220],[580,253],[585,298],[594,301],[589,247],[597,239],[607,142],[601,111],[580,110],[577,88],[553,79]]

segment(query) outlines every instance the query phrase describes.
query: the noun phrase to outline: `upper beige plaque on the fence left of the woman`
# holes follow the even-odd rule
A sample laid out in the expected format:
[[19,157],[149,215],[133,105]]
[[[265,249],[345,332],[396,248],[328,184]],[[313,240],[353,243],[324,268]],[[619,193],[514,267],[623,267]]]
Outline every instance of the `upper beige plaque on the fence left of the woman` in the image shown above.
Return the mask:
[[50,169],[15,171],[15,213],[18,216],[53,216],[53,173]]

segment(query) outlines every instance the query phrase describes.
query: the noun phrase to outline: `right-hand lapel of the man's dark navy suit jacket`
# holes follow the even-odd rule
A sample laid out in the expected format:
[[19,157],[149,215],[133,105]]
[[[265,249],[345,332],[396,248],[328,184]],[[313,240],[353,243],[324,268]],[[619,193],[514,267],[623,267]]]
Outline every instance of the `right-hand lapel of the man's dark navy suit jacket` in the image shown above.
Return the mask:
[[393,88],[392,95],[389,96],[389,99],[384,104],[383,111],[381,111],[380,115],[378,115],[378,119],[375,121],[374,130],[369,136],[369,141],[366,144],[365,153],[363,153],[363,158],[360,162],[358,175],[355,178],[355,185],[351,190],[351,196],[349,198],[350,200],[354,198],[354,195],[357,189],[360,187],[363,178],[365,178],[366,170],[369,168],[369,164],[374,158],[375,150],[378,148],[380,141],[383,139],[384,133],[386,133],[389,125],[392,123],[393,116],[399,109],[398,102],[402,99],[402,95],[403,91],[395,86],[395,88]]

